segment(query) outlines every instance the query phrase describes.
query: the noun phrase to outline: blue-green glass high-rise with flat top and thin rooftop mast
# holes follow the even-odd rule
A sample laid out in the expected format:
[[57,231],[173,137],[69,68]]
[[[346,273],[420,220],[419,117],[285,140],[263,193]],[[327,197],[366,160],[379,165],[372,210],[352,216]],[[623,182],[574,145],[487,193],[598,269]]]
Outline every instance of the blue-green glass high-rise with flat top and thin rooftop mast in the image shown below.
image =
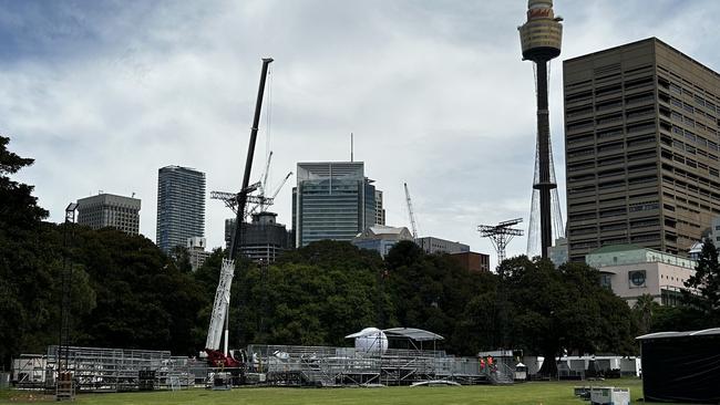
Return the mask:
[[376,224],[376,187],[362,162],[298,163],[292,188],[295,246],[350,241]]

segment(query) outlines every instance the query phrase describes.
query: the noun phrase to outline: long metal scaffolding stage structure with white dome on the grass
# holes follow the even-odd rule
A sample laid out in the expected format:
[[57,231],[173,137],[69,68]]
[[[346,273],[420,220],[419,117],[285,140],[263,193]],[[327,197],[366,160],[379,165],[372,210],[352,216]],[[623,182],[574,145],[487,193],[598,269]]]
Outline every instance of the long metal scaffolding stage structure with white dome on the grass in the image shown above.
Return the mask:
[[[432,349],[442,336],[407,328],[366,329],[348,335],[354,347],[253,344],[232,351],[234,367],[166,351],[56,345],[47,354],[23,354],[13,362],[17,388],[55,393],[70,373],[76,393],[230,390],[233,386],[380,386],[418,384],[511,384],[514,368],[502,359],[481,367],[477,357],[456,357]],[[389,342],[393,346],[388,347]],[[429,349],[425,349],[430,346]]]

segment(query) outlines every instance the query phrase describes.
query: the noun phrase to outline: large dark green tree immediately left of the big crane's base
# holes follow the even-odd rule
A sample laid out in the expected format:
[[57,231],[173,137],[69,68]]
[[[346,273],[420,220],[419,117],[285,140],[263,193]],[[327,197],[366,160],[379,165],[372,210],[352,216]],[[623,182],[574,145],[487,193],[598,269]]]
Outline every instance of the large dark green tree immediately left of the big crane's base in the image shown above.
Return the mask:
[[184,355],[203,349],[195,324],[208,298],[151,240],[112,228],[85,228],[75,245],[73,261],[85,268],[97,295],[96,308],[84,316],[79,344]]

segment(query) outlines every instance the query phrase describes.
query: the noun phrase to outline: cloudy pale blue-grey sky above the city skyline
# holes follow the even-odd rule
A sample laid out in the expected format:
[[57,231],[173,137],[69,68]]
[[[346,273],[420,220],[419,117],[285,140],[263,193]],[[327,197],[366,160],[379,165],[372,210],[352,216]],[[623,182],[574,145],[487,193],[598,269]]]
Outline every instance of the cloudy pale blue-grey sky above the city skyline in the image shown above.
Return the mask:
[[[517,27],[525,0],[0,0],[0,134],[35,164],[50,220],[100,191],[142,199],[155,240],[157,169],[206,174],[205,233],[232,216],[210,190],[241,184],[261,58],[268,79],[253,169],[275,188],[298,162],[354,158],[387,224],[495,252],[480,224],[529,222],[535,89]],[[556,0],[551,131],[565,215],[562,61],[657,37],[720,71],[716,0]],[[271,210],[290,227],[291,187]],[[516,237],[508,256],[525,253]]]

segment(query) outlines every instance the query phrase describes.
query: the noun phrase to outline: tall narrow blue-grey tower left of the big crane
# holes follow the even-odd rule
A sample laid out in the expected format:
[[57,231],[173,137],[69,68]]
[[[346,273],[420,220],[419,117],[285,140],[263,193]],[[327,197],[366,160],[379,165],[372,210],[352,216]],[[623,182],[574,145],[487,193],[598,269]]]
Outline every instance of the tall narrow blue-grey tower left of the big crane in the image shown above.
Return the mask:
[[157,172],[156,245],[169,252],[187,238],[205,236],[205,174],[166,166]]

